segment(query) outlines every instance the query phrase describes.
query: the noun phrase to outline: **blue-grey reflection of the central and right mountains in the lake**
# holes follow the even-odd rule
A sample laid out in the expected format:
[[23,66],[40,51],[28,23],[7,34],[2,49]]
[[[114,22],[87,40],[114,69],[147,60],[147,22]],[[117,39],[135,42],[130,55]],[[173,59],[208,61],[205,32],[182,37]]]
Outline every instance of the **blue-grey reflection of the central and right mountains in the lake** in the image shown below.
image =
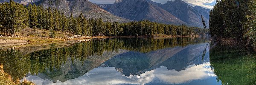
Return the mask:
[[103,67],[115,67],[117,71],[129,75],[140,75],[145,71],[165,66],[168,70],[181,71],[192,64],[202,64],[209,62],[209,51],[207,57],[202,62],[202,53],[207,43],[188,45],[186,47],[177,46],[166,48],[149,53],[129,51],[116,55],[102,64]]

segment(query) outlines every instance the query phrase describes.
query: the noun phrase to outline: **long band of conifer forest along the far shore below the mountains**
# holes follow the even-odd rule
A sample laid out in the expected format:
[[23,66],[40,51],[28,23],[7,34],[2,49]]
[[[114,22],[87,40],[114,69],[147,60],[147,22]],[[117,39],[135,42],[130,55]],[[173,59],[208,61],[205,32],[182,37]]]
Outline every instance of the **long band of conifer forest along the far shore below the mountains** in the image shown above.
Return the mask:
[[[62,11],[29,4],[10,1],[0,4],[0,33],[3,36],[15,36],[24,28],[49,30],[50,37],[55,37],[54,31],[68,31],[84,36],[147,36],[168,34],[172,36],[205,36],[204,29],[185,25],[166,25],[148,20],[129,23],[103,22],[102,19],[87,19],[81,13],[79,17],[73,14],[65,15]],[[67,17],[68,16],[68,17]]]

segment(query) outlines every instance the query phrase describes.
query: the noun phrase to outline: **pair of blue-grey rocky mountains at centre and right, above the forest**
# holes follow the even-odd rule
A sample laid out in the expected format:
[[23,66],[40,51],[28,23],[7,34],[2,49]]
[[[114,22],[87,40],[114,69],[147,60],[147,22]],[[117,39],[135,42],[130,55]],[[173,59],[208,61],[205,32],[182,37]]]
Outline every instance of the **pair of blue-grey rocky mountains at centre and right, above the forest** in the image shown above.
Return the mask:
[[145,19],[158,23],[202,27],[201,15],[203,15],[207,25],[209,23],[209,9],[193,7],[182,0],[168,1],[163,5],[152,0],[116,0],[114,4],[99,6],[112,14],[130,20]]

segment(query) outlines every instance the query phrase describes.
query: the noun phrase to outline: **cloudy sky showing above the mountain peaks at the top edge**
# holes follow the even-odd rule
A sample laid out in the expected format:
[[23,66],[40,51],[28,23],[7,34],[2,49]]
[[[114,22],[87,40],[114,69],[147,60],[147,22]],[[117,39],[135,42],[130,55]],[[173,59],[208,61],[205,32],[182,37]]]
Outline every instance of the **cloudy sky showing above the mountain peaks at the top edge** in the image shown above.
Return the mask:
[[[92,3],[98,3],[98,4],[111,4],[114,3],[115,0],[89,0]],[[166,3],[169,0],[152,0],[157,3]],[[174,0],[172,0],[174,1]],[[184,0],[186,3],[188,3],[191,6],[201,6],[204,8],[212,8],[212,6],[215,4],[216,0]]]

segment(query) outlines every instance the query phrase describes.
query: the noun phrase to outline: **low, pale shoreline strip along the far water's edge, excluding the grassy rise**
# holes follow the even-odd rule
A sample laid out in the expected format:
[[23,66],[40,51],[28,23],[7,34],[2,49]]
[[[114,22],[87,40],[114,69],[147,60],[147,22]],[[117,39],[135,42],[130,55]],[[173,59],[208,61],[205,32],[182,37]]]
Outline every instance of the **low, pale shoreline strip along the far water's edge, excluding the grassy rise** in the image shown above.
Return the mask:
[[[138,36],[137,38],[172,38],[172,37],[200,37],[200,36],[172,36],[172,35],[158,35],[153,37]],[[68,41],[87,41],[96,38],[136,38],[136,36],[120,36],[120,37],[79,37],[79,38],[49,38],[49,37],[0,37],[0,48],[19,47],[19,46],[32,46],[32,45],[48,45],[57,42]]]

